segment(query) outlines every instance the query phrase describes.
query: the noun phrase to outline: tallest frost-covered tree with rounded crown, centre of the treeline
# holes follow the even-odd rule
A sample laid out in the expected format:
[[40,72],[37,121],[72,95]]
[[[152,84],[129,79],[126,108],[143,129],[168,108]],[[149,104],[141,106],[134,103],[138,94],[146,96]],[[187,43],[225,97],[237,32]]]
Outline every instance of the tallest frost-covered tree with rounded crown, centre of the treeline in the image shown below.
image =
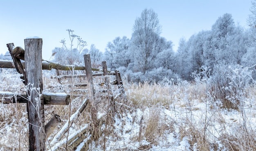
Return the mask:
[[153,68],[155,56],[160,49],[157,44],[162,26],[153,9],[144,9],[132,28],[133,70],[145,73]]

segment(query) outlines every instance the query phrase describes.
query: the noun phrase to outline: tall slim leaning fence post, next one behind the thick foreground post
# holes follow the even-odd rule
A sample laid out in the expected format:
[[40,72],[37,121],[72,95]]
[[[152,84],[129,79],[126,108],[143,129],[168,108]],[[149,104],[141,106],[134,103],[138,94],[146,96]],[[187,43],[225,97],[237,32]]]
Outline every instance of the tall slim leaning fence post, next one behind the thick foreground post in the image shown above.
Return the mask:
[[83,55],[85,61],[85,73],[88,80],[88,91],[89,91],[89,103],[91,105],[91,116],[92,116],[92,138],[97,138],[97,104],[95,102],[95,95],[92,81],[92,66],[90,54]]

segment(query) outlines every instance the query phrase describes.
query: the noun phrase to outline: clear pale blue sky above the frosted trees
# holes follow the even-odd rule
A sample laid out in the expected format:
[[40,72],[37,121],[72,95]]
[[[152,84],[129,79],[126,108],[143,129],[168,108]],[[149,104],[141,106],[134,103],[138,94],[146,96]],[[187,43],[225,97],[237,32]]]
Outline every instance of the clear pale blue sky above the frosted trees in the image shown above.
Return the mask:
[[[49,60],[60,41],[68,41],[66,29],[100,51],[116,37],[132,34],[132,26],[145,8],[157,13],[162,25],[160,36],[171,40],[176,50],[180,38],[210,30],[224,13],[247,26],[251,0],[1,0],[0,53],[6,44],[24,48],[24,39],[43,38],[43,59]],[[69,43],[67,43],[69,44]]]

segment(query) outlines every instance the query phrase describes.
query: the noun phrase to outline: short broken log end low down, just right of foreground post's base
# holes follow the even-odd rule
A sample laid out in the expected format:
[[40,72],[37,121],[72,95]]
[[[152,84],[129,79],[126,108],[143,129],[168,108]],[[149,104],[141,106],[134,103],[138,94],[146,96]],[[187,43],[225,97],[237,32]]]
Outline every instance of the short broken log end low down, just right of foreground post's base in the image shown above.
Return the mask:
[[47,124],[45,124],[45,134],[46,138],[51,135],[51,133],[58,127],[58,125],[61,124],[60,115],[55,114],[51,120]]

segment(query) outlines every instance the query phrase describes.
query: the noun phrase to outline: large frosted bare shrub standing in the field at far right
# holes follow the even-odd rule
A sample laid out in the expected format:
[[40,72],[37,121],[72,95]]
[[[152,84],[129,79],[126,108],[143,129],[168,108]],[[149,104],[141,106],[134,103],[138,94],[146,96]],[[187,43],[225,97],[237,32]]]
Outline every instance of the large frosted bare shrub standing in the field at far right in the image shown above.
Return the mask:
[[238,109],[244,89],[252,82],[252,71],[239,64],[216,64],[208,80],[213,101],[221,101],[222,107]]

